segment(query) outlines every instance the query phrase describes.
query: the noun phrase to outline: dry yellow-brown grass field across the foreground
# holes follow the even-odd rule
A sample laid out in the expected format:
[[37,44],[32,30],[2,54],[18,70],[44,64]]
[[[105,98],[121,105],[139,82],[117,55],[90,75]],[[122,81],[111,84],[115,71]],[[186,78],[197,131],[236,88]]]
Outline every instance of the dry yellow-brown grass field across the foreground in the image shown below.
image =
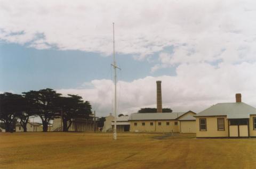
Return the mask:
[[194,134],[0,133],[0,168],[255,168],[256,139]]

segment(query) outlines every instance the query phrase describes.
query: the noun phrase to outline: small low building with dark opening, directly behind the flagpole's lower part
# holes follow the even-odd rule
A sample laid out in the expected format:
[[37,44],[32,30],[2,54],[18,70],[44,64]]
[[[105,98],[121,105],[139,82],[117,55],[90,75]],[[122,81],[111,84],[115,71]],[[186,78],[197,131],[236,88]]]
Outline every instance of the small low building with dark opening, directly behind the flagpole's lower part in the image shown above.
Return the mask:
[[[129,120],[129,116],[117,117],[116,132],[130,131],[130,122],[128,120]],[[115,125],[114,120],[112,121],[111,125],[112,125],[112,130],[114,131],[114,125]]]

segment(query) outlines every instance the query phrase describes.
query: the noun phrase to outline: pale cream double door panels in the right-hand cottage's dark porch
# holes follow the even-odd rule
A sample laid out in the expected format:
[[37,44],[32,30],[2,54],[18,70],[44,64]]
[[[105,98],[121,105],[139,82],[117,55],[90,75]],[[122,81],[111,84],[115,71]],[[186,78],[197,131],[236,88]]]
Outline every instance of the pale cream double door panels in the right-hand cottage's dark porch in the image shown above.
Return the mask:
[[249,119],[229,119],[229,137],[249,137]]

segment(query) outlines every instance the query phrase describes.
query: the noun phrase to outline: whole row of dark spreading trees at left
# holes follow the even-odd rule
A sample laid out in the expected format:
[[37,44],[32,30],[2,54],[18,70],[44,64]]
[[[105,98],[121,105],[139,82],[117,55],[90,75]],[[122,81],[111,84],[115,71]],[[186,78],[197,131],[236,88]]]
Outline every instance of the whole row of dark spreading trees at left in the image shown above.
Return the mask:
[[12,132],[15,123],[20,122],[23,131],[27,131],[29,117],[39,116],[43,131],[54,118],[62,117],[63,131],[68,131],[73,120],[89,119],[92,114],[90,102],[78,95],[61,97],[53,89],[30,90],[22,95],[5,92],[0,94],[0,122],[6,132]]

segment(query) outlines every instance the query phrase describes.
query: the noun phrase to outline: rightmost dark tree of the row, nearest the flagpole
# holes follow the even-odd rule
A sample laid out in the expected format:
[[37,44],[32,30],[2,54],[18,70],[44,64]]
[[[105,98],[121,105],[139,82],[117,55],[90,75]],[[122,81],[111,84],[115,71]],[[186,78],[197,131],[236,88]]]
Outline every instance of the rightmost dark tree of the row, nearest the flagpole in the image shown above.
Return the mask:
[[61,112],[58,116],[62,116],[63,131],[68,131],[72,121],[76,118],[87,119],[92,113],[91,104],[84,102],[81,96],[68,95],[69,97],[59,97],[57,105],[60,107]]

